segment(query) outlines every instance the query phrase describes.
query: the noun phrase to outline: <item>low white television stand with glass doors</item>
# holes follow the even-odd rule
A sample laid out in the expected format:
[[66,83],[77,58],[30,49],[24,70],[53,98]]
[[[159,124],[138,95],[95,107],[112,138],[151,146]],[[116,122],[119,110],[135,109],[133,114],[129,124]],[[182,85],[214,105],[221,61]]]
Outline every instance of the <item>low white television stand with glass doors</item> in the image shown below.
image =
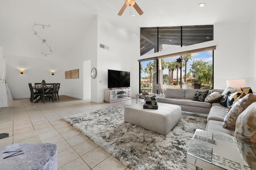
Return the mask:
[[119,102],[132,98],[132,89],[107,89],[105,90],[105,102]]

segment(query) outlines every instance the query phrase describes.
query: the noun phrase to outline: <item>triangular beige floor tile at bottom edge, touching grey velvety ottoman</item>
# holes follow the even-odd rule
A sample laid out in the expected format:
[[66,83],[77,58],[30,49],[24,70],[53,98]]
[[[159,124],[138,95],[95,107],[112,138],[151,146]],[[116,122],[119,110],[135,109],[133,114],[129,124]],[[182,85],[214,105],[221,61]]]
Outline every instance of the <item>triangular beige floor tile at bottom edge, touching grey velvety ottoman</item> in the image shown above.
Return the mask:
[[77,158],[76,160],[73,160],[72,162],[62,166],[58,170],[90,170],[88,165],[81,159]]

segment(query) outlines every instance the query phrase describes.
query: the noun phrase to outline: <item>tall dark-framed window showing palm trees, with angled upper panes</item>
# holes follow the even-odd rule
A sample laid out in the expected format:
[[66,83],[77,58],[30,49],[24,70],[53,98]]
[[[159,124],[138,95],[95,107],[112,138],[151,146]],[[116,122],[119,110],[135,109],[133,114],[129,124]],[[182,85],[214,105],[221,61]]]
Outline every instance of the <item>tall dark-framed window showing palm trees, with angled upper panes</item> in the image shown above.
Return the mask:
[[[141,28],[140,55],[210,40],[213,40],[213,25]],[[150,68],[152,77],[146,76]],[[213,49],[140,61],[140,69],[140,92],[153,92],[154,84],[162,89],[198,88],[198,84],[199,88],[212,89]]]

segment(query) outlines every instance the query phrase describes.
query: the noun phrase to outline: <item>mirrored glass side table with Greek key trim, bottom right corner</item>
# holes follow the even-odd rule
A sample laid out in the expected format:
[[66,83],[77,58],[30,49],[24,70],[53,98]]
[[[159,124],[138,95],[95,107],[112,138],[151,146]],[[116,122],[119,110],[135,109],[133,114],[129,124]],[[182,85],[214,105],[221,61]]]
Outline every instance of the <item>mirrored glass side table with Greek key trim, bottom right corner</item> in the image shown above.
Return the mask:
[[256,170],[256,144],[196,129],[187,170]]

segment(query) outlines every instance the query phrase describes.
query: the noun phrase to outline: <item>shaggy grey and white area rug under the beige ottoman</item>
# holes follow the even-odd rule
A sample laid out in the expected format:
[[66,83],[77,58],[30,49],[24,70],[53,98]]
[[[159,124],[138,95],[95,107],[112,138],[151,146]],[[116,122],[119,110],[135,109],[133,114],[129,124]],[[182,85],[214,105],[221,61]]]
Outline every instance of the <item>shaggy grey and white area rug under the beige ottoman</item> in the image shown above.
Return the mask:
[[191,139],[196,129],[206,128],[206,119],[182,115],[167,135],[161,135],[124,122],[126,106],[72,115],[64,120],[130,169],[186,169]]

